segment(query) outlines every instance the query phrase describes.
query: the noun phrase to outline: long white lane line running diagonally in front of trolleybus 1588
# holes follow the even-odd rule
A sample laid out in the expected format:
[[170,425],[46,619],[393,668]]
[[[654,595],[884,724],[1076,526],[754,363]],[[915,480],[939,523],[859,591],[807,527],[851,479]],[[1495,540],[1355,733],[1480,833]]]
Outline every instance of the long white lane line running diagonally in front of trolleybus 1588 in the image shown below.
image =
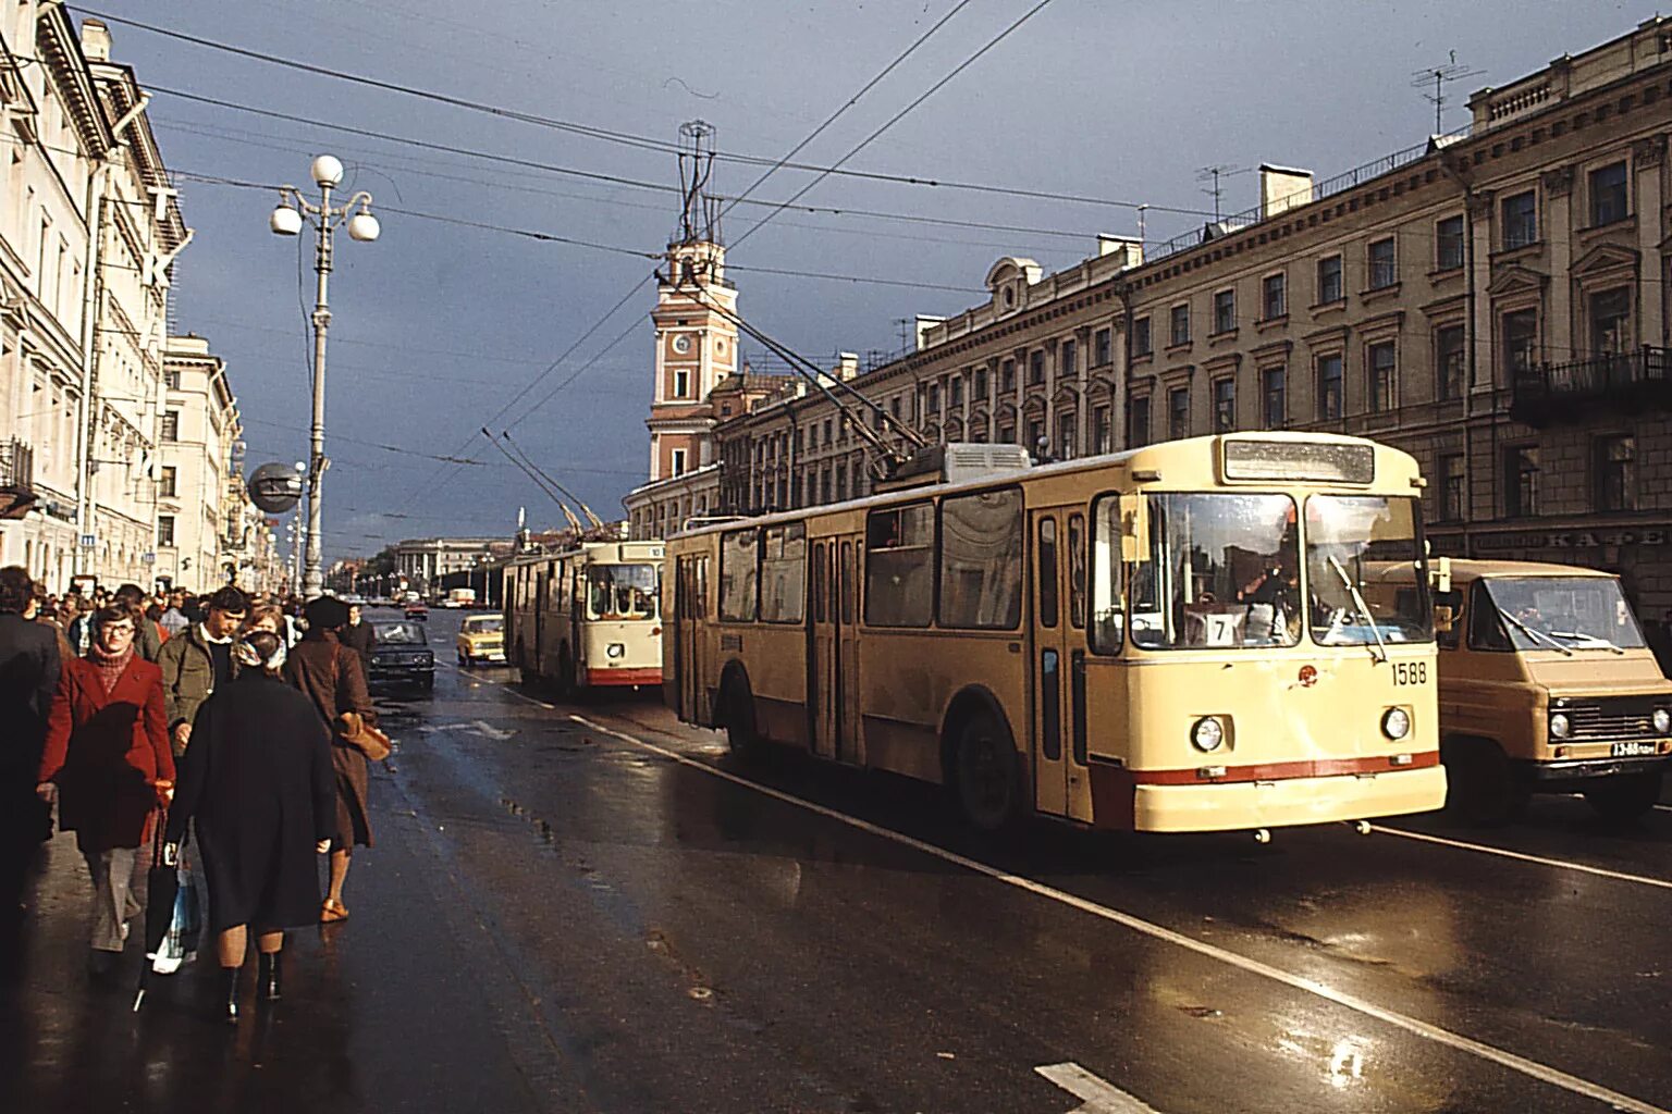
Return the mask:
[[632,735],[627,735],[625,732],[617,732],[614,728],[604,727],[602,723],[589,720],[584,715],[573,715],[573,713],[570,713],[568,718],[573,720],[575,723],[582,723],[585,727],[590,727],[594,732],[599,732],[600,735],[609,735],[610,738],[619,738],[619,740],[622,740],[625,743],[632,743],[634,747],[642,747],[644,750],[649,750],[650,753],[655,753],[655,755],[660,755],[660,757],[669,758],[672,762],[677,762],[681,765],[691,767],[692,770],[701,770],[702,773],[722,778],[726,782],[732,782],[734,785],[741,785],[744,788],[751,788],[751,790],[754,790],[754,792],[757,792],[757,793],[761,793],[764,797],[771,797],[772,800],[779,800],[779,802],[782,802],[786,805],[793,805],[796,808],[804,808],[804,810],[808,810],[811,813],[826,817],[829,820],[836,820],[838,823],[844,823],[844,825],[848,825],[851,828],[856,828],[859,832],[866,832],[869,835],[876,835],[879,838],[900,843],[901,847],[910,847],[911,850],[921,852],[925,855],[933,855],[935,858],[940,858],[941,862],[953,863],[955,867],[963,867],[965,870],[970,870],[971,873],[980,873],[980,875],[985,875],[988,879],[993,879],[995,882],[1003,882],[1005,885],[1012,885],[1012,887],[1015,887],[1018,890],[1027,890],[1028,894],[1035,894],[1038,897],[1045,897],[1045,899],[1053,900],[1053,902],[1057,902],[1060,905],[1067,905],[1070,909],[1077,909],[1077,910],[1080,910],[1083,914],[1090,914],[1092,917],[1099,917],[1102,920],[1109,920],[1112,924],[1122,925],[1124,929],[1130,929],[1132,932],[1139,932],[1139,934],[1147,935],[1150,939],[1162,940],[1165,944],[1174,944],[1177,947],[1182,947],[1187,952],[1195,952],[1197,955],[1202,955],[1206,959],[1212,959],[1212,960],[1217,960],[1221,964],[1227,964],[1231,967],[1236,967],[1236,969],[1244,970],[1244,972],[1252,974],[1252,975],[1261,975],[1264,979],[1269,979],[1272,982],[1282,984],[1282,985],[1291,987],[1294,990],[1301,990],[1304,994],[1313,994],[1316,997],[1324,999],[1326,1002],[1334,1002],[1336,1005],[1349,1009],[1349,1010],[1353,1010],[1356,1014],[1363,1014],[1366,1017],[1373,1017],[1376,1020],[1386,1022],[1386,1024],[1389,1024],[1389,1025],[1393,1025],[1396,1029],[1403,1029],[1403,1030],[1406,1030],[1409,1034],[1415,1034],[1418,1037],[1423,1037],[1426,1041],[1433,1041],[1436,1044],[1443,1044],[1443,1046],[1456,1049],[1460,1052],[1466,1052],[1466,1054],[1475,1056],[1478,1059],[1490,1061],[1493,1064],[1498,1064],[1500,1067],[1506,1067],[1506,1069],[1510,1069],[1513,1072],[1518,1072],[1522,1076],[1528,1076],[1528,1077],[1537,1079],[1540,1082],[1547,1082],[1547,1084],[1550,1084],[1553,1087],[1562,1087],[1563,1091],[1570,1091],[1570,1092],[1583,1096],[1587,1099],[1595,1099],[1597,1102],[1612,1102],[1615,1106],[1615,1109],[1629,1111],[1630,1114],[1672,1114],[1672,1111],[1667,1111],[1667,1109],[1659,1107],[1659,1106],[1650,1106],[1649,1102],[1644,1102],[1642,1099],[1634,1099],[1629,1094],[1622,1094],[1618,1091],[1612,1091],[1608,1087],[1603,1087],[1602,1084],[1590,1082],[1588,1079],[1580,1079],[1578,1076],[1570,1076],[1568,1072],[1565,1072],[1565,1071],[1562,1071],[1558,1067],[1550,1067],[1548,1064],[1540,1064],[1538,1061],[1530,1061],[1525,1056],[1517,1056],[1515,1052],[1506,1052],[1503,1049],[1498,1049],[1495,1046],[1485,1044],[1481,1041],[1475,1041],[1473,1037],[1465,1037],[1463,1034],[1451,1032],[1450,1029],[1441,1029],[1440,1025],[1433,1025],[1433,1024],[1430,1024],[1426,1020],[1421,1020],[1421,1019],[1416,1019],[1416,1017],[1409,1017],[1408,1014],[1399,1014],[1398,1010],[1391,1010],[1391,1009],[1376,1005],[1374,1002],[1369,1002],[1368,999],[1361,999],[1356,994],[1348,994],[1346,990],[1336,990],[1334,987],[1326,985],[1323,982],[1318,982],[1314,979],[1306,979],[1302,975],[1296,975],[1292,972],[1282,970],[1281,967],[1272,967],[1271,964],[1261,962],[1257,959],[1249,959],[1247,955],[1239,955],[1237,952],[1231,952],[1231,950],[1222,949],[1219,945],[1206,944],[1206,942],[1197,940],[1194,937],[1187,937],[1182,932],[1174,932],[1172,929],[1165,929],[1165,927],[1162,927],[1159,924],[1152,924],[1149,920],[1144,920],[1142,917],[1134,917],[1132,914],[1120,912],[1119,909],[1110,909],[1107,905],[1099,905],[1097,902],[1092,902],[1092,900],[1083,899],[1083,897],[1077,897],[1073,894],[1068,894],[1067,890],[1058,890],[1057,887],[1045,885],[1043,882],[1035,882],[1033,879],[1025,879],[1025,877],[1022,877],[1018,873],[1010,873],[1007,870],[1000,870],[998,867],[990,867],[985,862],[980,862],[980,860],[975,860],[975,858],[968,858],[966,855],[960,855],[958,852],[950,852],[945,847],[936,847],[935,843],[926,843],[925,840],[915,838],[911,835],[905,835],[901,832],[895,832],[893,828],[884,828],[884,827],[881,827],[878,823],[871,823],[869,820],[861,820],[858,817],[849,817],[844,812],[836,812],[834,808],[826,808],[824,805],[818,805],[818,803],[814,803],[811,800],[804,800],[801,797],[794,797],[794,795],[786,793],[782,790],[776,790],[776,788],[772,788],[769,785],[761,785],[759,782],[751,782],[749,778],[737,777],[736,773],[732,773],[729,770],[721,770],[721,768],[712,767],[712,765],[709,765],[706,762],[697,762],[696,758],[691,758],[689,755],[682,755],[677,750],[669,750],[665,747],[657,747],[655,743],[647,743],[642,738],[635,738]]

